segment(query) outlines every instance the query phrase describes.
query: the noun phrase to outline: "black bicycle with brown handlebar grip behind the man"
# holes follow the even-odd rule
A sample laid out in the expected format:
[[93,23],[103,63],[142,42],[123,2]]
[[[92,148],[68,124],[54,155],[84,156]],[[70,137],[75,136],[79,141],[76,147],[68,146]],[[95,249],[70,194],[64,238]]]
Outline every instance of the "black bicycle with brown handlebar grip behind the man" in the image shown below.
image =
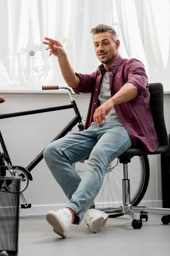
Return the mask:
[[[71,99],[71,104],[56,106],[52,108],[42,108],[42,109],[31,110],[31,111],[0,114],[0,119],[74,108],[75,117],[71,120],[71,122],[68,123],[68,125],[66,125],[66,127],[51,142],[64,137],[76,125],[78,126],[79,131],[83,131],[84,125],[85,125],[85,117],[83,118],[81,117],[79,113],[79,109],[77,107],[76,100],[74,99],[74,96],[79,96],[82,93],[76,94],[70,88],[61,87],[61,86],[43,86],[42,90],[68,90],[69,96]],[[4,101],[5,99],[3,97],[0,97],[0,103]],[[3,148],[3,152],[2,153],[0,152],[0,176],[5,176],[5,177],[22,176],[22,179],[20,181],[20,197],[23,201],[23,204],[21,204],[21,208],[25,208],[25,209],[31,208],[31,204],[28,204],[26,202],[23,192],[27,189],[29,181],[33,180],[30,172],[43,159],[44,150],[42,150],[41,153],[25,168],[23,166],[12,165],[1,131],[0,131],[0,144]],[[130,202],[133,206],[137,206],[142,200],[142,198],[144,197],[144,194],[147,190],[147,186],[149,182],[150,168],[149,168],[148,157],[147,155],[142,155],[139,157],[135,156],[133,157],[133,161],[130,162],[130,164],[132,166],[131,168],[130,168],[130,165],[128,167],[128,170],[129,170],[128,174],[130,178],[130,192],[132,195]],[[75,167],[75,163],[73,163],[72,166]],[[119,163],[119,158],[116,158],[111,163],[111,165],[108,166],[105,179],[102,185],[102,189],[100,190],[99,194],[95,199],[95,203],[97,202],[96,206],[99,207],[97,209],[101,209],[105,211],[105,209],[108,209],[109,207],[121,205],[122,178],[123,178],[123,175],[122,175],[123,170],[121,170],[122,169],[121,166],[122,164]],[[79,174],[79,176],[82,176],[85,171],[78,169],[76,170],[76,172]],[[4,181],[4,183],[1,182],[0,192],[15,193],[15,191],[12,189],[13,183],[14,181],[10,181],[10,180]],[[113,199],[113,197],[114,198],[116,197],[116,199]],[[120,215],[122,214],[121,213],[114,214],[114,215],[111,215],[110,217],[117,217]]]

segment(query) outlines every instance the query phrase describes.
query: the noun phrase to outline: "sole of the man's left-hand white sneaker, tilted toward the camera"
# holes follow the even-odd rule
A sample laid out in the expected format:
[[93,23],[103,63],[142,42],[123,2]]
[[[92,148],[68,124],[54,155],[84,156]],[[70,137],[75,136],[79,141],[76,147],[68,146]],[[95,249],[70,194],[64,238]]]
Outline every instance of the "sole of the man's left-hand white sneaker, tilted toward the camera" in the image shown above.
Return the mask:
[[55,215],[53,212],[48,212],[46,214],[46,220],[53,227],[54,233],[62,236],[63,238],[67,237],[68,232],[64,232],[63,224],[57,215]]

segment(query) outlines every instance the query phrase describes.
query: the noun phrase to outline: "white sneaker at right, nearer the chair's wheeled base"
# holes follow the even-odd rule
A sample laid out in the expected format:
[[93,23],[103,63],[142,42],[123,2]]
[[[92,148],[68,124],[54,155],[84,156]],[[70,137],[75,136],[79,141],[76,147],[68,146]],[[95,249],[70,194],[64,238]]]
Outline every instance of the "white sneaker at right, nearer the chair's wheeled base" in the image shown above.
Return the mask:
[[84,215],[85,223],[90,227],[94,233],[99,232],[105,223],[109,215],[97,209],[89,209]]

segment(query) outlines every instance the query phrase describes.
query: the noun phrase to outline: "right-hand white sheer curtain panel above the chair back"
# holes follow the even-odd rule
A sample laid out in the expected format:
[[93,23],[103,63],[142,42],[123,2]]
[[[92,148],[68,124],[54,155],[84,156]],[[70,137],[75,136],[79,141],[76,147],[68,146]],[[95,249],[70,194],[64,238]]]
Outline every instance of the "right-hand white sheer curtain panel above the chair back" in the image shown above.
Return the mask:
[[150,82],[170,91],[170,1],[116,0],[122,40],[128,58],[138,58]]

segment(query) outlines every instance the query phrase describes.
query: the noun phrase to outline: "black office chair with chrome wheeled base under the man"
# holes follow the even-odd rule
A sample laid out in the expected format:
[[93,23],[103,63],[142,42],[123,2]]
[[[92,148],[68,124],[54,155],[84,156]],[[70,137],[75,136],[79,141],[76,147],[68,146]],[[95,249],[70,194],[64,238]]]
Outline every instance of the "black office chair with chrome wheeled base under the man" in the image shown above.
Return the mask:
[[[128,179],[127,164],[133,156],[142,156],[149,154],[162,154],[168,148],[168,136],[164,122],[164,91],[161,83],[149,84],[150,91],[150,108],[152,111],[154,127],[159,141],[159,148],[154,152],[146,152],[139,148],[129,148],[119,158],[119,163],[123,164],[123,179],[122,179],[122,193],[123,204],[120,207],[112,207],[108,209],[101,209],[109,215],[130,215],[133,218],[132,227],[140,229],[142,227],[142,219],[146,219],[148,213],[156,213],[164,215],[161,218],[163,224],[170,223],[170,209],[167,208],[151,208],[151,207],[137,207],[130,204],[130,180]],[[140,213],[140,220],[137,219],[137,213]]]

